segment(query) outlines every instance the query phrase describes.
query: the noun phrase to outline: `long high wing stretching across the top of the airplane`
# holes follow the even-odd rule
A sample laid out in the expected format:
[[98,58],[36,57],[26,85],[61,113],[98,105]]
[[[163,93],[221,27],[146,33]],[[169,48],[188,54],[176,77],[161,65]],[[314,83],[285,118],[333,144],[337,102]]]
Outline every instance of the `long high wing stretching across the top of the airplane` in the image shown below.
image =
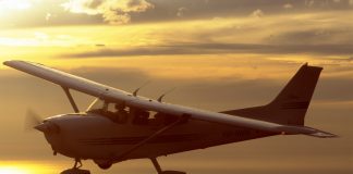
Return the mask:
[[216,113],[170,103],[162,103],[144,97],[136,97],[130,92],[115,89],[96,82],[85,79],[69,73],[64,73],[42,64],[25,61],[7,61],[4,65],[19,71],[32,74],[39,78],[54,83],[65,88],[74,89],[104,100],[124,102],[129,107],[148,111],[156,111],[178,116],[188,115],[191,119],[214,122],[226,125],[246,127],[257,130],[271,132],[278,134],[303,134],[315,137],[334,137],[334,135],[305,126],[283,125],[255,119]]

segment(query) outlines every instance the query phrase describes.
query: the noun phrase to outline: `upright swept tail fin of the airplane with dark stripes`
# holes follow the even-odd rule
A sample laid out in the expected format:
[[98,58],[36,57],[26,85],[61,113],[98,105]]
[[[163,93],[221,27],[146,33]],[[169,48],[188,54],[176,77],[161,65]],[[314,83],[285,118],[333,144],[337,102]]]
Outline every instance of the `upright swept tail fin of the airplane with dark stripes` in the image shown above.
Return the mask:
[[322,67],[304,64],[269,104],[222,113],[285,125],[304,125],[321,70]]

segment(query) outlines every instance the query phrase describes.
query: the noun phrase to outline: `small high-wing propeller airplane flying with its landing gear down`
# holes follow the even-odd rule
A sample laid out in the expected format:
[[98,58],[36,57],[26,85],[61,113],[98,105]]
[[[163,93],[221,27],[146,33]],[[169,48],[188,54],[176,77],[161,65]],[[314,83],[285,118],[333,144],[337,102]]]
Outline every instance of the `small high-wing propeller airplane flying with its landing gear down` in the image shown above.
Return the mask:
[[[307,135],[332,138],[337,135],[304,125],[322,67],[302,65],[279,95],[268,104],[222,112],[193,109],[126,92],[39,63],[5,61],[4,65],[62,87],[74,113],[37,121],[53,154],[74,159],[72,169],[61,174],[89,174],[82,160],[93,160],[100,169],[126,160],[149,159],[158,174],[157,158],[196,149],[277,135]],[[96,97],[80,111],[70,90]]]

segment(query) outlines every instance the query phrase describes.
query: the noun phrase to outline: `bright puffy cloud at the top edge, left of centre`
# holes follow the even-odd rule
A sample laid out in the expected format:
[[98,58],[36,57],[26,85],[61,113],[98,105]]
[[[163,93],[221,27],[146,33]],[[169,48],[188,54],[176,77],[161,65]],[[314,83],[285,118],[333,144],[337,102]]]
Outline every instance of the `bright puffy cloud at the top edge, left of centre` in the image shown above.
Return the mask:
[[72,13],[100,14],[110,24],[126,24],[131,13],[145,12],[154,4],[146,0],[70,0],[62,7]]

